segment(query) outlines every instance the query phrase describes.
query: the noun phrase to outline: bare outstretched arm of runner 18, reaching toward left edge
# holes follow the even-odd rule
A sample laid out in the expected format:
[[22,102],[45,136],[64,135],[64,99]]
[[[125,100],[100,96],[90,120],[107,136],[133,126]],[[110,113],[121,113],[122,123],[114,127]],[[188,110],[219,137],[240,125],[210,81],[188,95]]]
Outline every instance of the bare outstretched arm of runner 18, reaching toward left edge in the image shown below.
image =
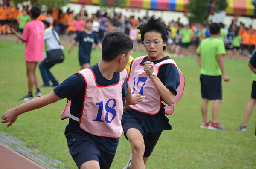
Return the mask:
[[55,103],[56,101],[61,100],[55,92],[50,92],[48,95],[37,97],[35,99],[29,100],[26,103],[21,104],[13,109],[9,109],[2,116],[1,123],[10,122],[7,127],[11,126],[17,119],[17,117],[25,112],[29,112],[41,107],[47,106],[48,104]]

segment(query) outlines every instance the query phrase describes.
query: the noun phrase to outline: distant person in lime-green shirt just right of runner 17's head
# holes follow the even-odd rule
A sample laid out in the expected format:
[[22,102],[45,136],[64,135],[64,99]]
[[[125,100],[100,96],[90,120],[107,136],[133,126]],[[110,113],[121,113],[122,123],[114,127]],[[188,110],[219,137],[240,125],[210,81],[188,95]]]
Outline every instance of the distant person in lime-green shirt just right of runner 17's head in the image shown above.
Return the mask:
[[191,38],[194,32],[190,29],[189,25],[186,25],[183,29],[180,30],[181,38],[181,53],[188,55],[188,47],[190,46]]

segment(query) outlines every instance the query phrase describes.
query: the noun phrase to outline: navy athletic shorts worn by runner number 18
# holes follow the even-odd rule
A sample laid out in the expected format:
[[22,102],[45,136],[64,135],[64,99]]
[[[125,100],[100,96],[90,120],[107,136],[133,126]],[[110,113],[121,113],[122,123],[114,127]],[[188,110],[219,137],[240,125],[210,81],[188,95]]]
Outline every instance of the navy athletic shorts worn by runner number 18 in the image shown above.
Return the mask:
[[116,149],[113,151],[106,151],[96,146],[90,137],[86,135],[78,135],[75,133],[66,136],[67,146],[69,148],[70,155],[72,156],[76,166],[78,168],[87,161],[98,161],[101,169],[109,169]]

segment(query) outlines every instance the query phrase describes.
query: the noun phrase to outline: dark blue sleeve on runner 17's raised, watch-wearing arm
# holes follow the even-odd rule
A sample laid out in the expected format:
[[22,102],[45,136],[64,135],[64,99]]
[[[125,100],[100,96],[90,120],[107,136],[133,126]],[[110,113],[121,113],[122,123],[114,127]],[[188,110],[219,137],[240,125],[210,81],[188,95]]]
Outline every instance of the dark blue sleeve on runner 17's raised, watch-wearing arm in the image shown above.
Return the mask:
[[177,87],[180,85],[180,74],[175,65],[164,64],[160,66],[157,76],[164,86],[166,86],[169,90],[175,90],[175,95],[177,95]]

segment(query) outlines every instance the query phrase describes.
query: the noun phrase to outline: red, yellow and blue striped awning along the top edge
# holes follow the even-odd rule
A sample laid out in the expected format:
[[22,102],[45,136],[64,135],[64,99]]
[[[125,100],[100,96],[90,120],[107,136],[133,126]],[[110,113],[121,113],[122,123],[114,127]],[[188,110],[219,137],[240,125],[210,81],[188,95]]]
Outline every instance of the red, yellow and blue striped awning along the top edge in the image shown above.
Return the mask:
[[[100,0],[67,0],[70,3],[99,5]],[[186,4],[189,0],[126,0],[128,8],[140,8],[163,11],[186,12]],[[255,0],[256,1],[256,0]],[[227,14],[230,15],[256,15],[256,10],[252,4],[253,0],[227,0]],[[115,0],[107,0],[108,5],[114,4]]]

